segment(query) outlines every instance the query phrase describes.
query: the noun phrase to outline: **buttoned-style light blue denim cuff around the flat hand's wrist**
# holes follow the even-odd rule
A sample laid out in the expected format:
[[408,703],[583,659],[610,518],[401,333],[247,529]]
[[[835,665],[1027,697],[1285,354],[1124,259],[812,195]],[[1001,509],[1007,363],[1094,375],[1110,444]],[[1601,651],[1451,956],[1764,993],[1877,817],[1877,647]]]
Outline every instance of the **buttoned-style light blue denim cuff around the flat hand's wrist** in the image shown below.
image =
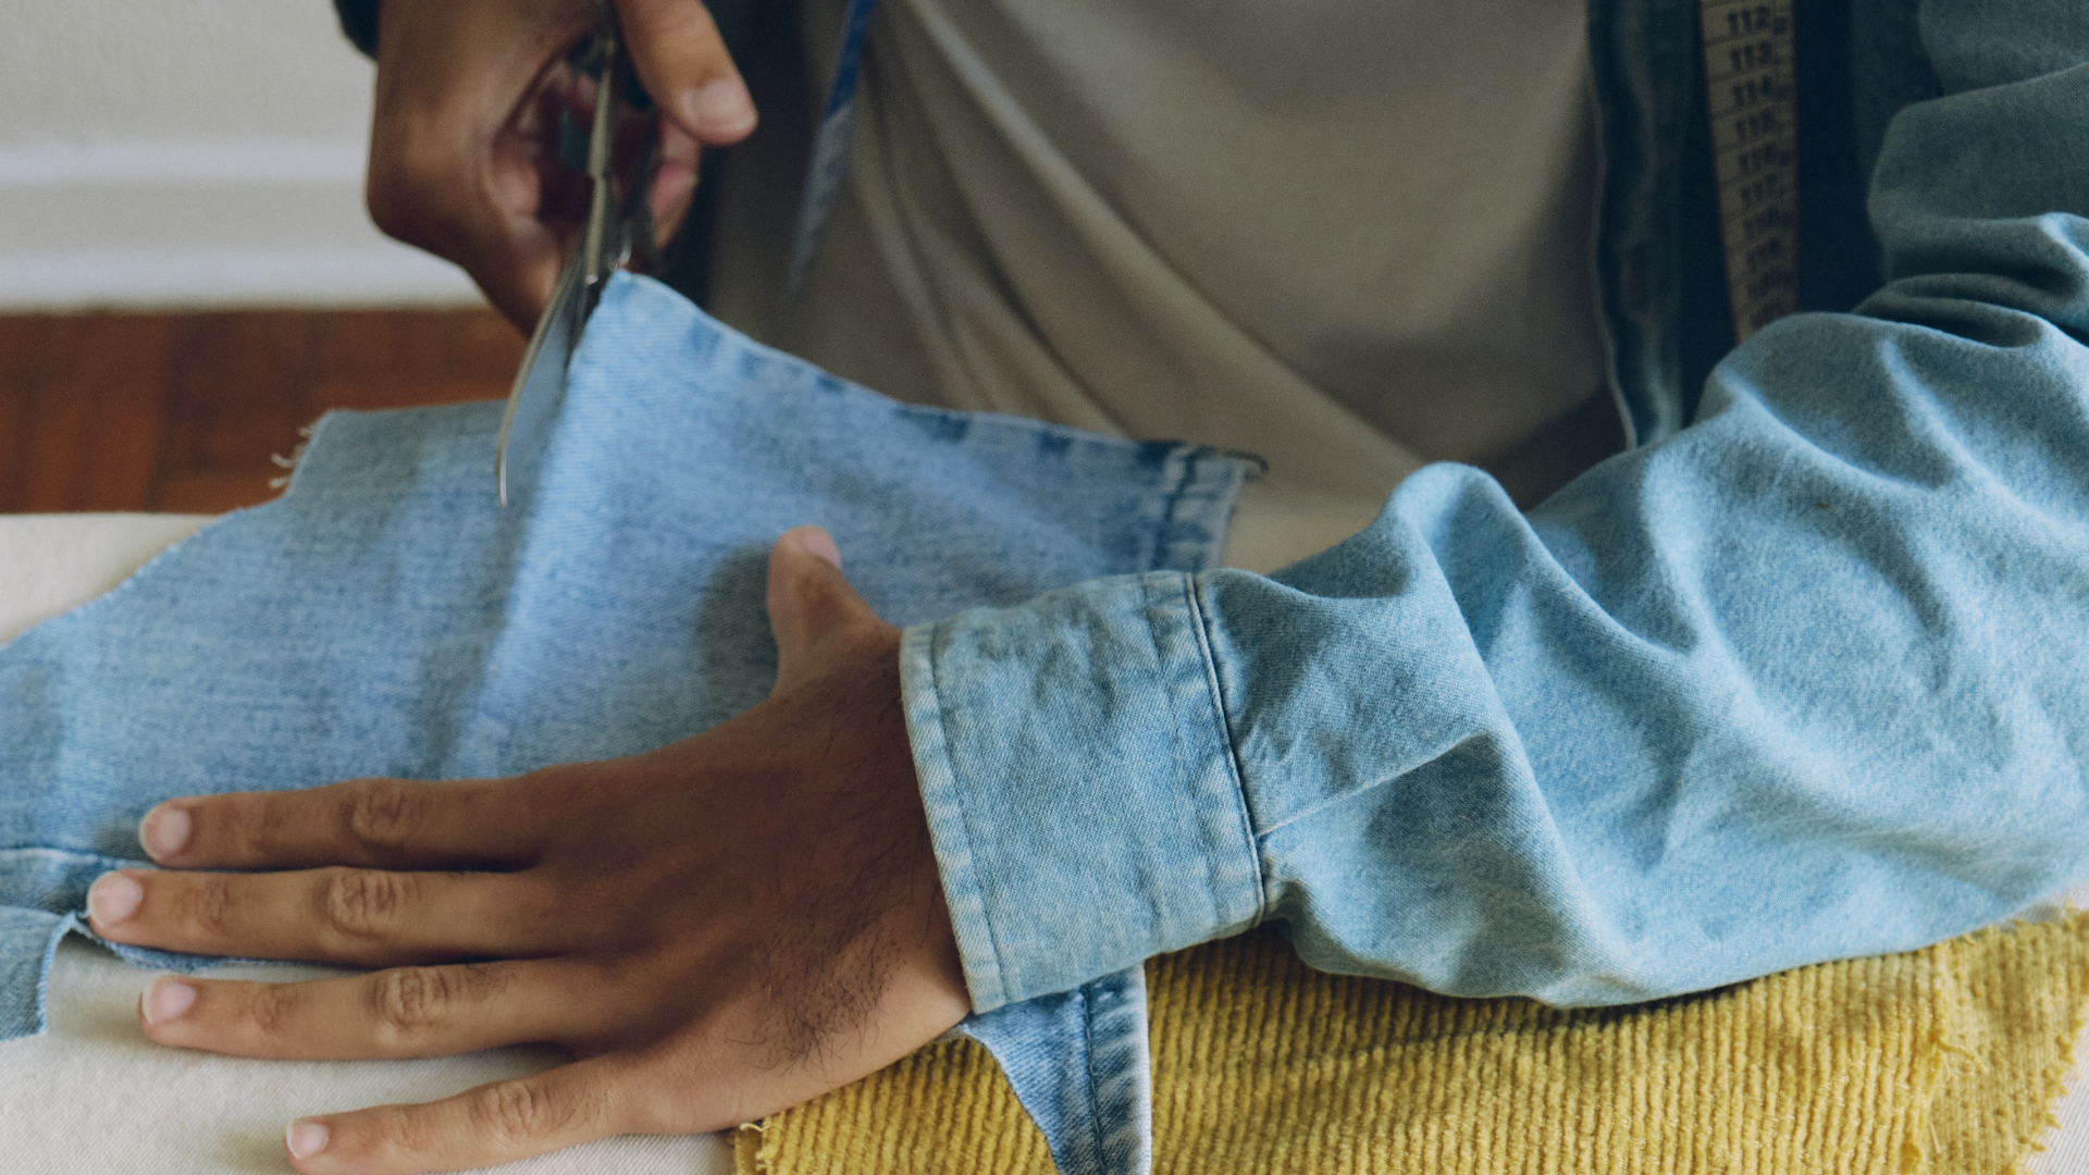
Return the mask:
[[900,682],[976,1012],[1258,920],[1255,840],[1191,575],[915,625]]

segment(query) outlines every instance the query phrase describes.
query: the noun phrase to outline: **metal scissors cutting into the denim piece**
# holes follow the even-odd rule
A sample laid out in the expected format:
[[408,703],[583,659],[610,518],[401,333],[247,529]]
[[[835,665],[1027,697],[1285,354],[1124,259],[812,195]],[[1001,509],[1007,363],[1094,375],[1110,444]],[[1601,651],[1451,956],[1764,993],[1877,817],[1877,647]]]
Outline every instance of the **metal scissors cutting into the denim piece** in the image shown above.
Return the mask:
[[566,263],[560,266],[551,301],[537,318],[537,328],[522,351],[522,370],[516,372],[516,383],[508,391],[508,408],[501,412],[501,431],[493,450],[493,489],[499,493],[501,506],[508,504],[508,473],[514,466],[510,454],[535,454],[543,445],[566,395],[566,366],[572,362],[572,349],[579,345],[589,316],[595,314],[610,274],[631,259],[633,249],[643,255],[648,268],[658,270],[652,207],[646,203],[654,169],[660,163],[658,138],[648,132],[637,178],[620,199],[614,169],[618,107],[643,113],[652,102],[623,52],[614,4],[597,0],[595,13],[595,31],[568,56],[574,73],[597,79],[595,115],[585,138],[585,155],[579,125],[568,111],[560,111],[558,125],[560,159],[574,171],[585,171],[591,186],[587,224]]

